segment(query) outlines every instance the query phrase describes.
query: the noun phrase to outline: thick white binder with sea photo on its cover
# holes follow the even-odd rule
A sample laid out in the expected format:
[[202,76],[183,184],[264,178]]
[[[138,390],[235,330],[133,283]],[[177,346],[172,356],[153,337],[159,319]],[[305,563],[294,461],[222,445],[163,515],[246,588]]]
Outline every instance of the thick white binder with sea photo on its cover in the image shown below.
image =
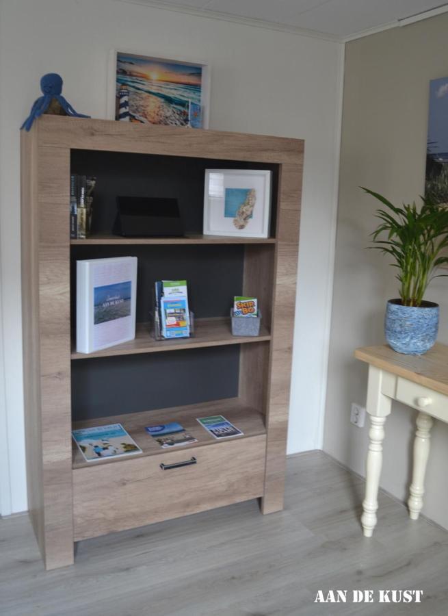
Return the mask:
[[135,338],[136,291],[137,257],[77,261],[77,352]]

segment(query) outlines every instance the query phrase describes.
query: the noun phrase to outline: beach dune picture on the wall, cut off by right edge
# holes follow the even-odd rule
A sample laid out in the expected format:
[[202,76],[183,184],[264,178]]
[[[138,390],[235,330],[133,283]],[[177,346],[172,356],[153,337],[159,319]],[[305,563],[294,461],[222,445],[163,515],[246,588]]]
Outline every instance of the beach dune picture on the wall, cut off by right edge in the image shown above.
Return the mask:
[[448,77],[430,81],[425,197],[448,205]]

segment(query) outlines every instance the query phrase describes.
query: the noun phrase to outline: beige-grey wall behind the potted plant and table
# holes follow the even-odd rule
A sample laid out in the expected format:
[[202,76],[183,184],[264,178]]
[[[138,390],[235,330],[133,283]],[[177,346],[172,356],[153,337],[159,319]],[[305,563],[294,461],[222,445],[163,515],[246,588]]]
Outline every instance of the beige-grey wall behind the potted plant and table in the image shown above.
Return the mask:
[[[397,282],[388,261],[365,250],[376,205],[358,186],[400,203],[423,194],[429,81],[448,75],[447,32],[443,15],[346,46],[324,450],[363,475],[368,426],[361,430],[349,420],[350,403],[365,404],[367,365],[353,351],[384,342],[384,307],[397,296]],[[440,304],[438,340],[447,344],[447,279],[432,283],[427,299]],[[401,500],[408,498],[414,418],[395,404],[386,421],[381,486]],[[448,426],[436,422],[423,513],[445,527],[447,464]]]

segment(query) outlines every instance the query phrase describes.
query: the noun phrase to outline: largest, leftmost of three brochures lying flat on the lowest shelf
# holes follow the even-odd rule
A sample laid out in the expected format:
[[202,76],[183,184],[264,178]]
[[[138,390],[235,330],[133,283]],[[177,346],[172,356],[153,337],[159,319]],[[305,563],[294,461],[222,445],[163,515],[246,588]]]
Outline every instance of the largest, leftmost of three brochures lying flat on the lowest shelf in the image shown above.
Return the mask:
[[88,462],[142,453],[121,424],[73,430],[73,440]]

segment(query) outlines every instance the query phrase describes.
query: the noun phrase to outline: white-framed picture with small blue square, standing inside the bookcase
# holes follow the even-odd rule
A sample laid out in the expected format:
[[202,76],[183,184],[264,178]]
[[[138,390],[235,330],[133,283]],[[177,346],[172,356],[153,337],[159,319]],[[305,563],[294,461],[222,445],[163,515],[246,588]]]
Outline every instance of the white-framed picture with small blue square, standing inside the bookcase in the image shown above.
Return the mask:
[[268,238],[270,209],[270,171],[205,170],[205,235]]

